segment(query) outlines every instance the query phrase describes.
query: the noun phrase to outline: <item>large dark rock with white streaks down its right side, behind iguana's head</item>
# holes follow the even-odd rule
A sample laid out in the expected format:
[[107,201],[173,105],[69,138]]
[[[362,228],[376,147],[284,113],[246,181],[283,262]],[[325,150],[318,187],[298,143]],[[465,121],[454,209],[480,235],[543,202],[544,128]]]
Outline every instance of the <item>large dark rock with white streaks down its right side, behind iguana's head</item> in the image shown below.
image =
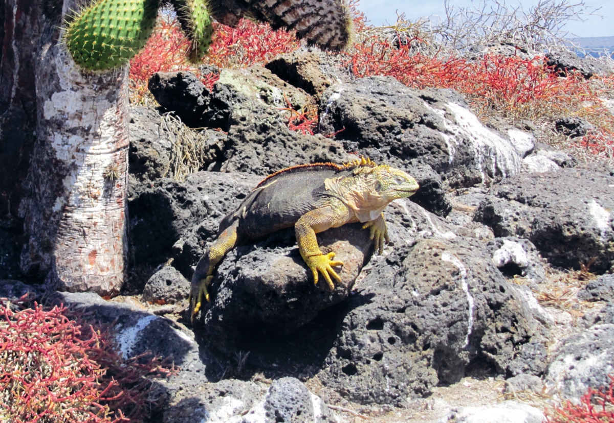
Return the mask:
[[507,135],[483,126],[451,90],[412,90],[391,77],[333,85],[320,104],[320,132],[347,151],[400,169],[427,165],[448,186],[499,180],[520,170]]

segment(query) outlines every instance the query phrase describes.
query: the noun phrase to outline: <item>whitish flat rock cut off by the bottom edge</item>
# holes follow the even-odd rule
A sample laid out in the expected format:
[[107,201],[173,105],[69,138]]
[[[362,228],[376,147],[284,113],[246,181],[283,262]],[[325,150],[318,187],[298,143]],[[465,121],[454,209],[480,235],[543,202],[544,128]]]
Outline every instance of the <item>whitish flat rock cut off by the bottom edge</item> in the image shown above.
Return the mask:
[[505,401],[497,405],[456,408],[438,423],[542,423],[542,411],[528,404]]

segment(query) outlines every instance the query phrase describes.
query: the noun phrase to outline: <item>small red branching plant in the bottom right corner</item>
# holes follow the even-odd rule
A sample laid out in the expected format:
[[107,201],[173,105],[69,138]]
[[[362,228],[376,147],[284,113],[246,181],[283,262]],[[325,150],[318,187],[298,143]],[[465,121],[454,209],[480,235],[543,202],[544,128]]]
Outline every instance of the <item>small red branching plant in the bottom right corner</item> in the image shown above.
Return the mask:
[[579,404],[569,401],[554,411],[546,410],[548,423],[614,423],[614,376],[610,386],[600,389],[588,389],[582,395]]

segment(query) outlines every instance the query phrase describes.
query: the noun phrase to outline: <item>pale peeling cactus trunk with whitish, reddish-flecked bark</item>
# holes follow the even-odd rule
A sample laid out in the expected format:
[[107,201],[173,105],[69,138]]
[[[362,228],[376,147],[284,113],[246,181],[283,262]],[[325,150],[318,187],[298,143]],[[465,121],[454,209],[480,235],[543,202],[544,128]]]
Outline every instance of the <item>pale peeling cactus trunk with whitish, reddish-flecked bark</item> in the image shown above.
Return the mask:
[[[78,10],[65,0],[63,18]],[[47,21],[36,58],[37,140],[20,215],[21,270],[66,291],[119,292],[126,266],[128,72],[86,75]]]

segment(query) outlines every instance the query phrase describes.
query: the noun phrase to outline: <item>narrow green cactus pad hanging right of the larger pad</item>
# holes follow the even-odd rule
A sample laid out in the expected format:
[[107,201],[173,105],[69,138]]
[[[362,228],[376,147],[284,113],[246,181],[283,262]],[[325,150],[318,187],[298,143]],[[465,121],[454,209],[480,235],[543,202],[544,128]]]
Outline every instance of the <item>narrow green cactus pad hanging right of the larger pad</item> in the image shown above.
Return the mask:
[[213,20],[209,15],[206,0],[174,0],[173,7],[181,23],[181,29],[190,40],[188,59],[200,64],[211,45]]

